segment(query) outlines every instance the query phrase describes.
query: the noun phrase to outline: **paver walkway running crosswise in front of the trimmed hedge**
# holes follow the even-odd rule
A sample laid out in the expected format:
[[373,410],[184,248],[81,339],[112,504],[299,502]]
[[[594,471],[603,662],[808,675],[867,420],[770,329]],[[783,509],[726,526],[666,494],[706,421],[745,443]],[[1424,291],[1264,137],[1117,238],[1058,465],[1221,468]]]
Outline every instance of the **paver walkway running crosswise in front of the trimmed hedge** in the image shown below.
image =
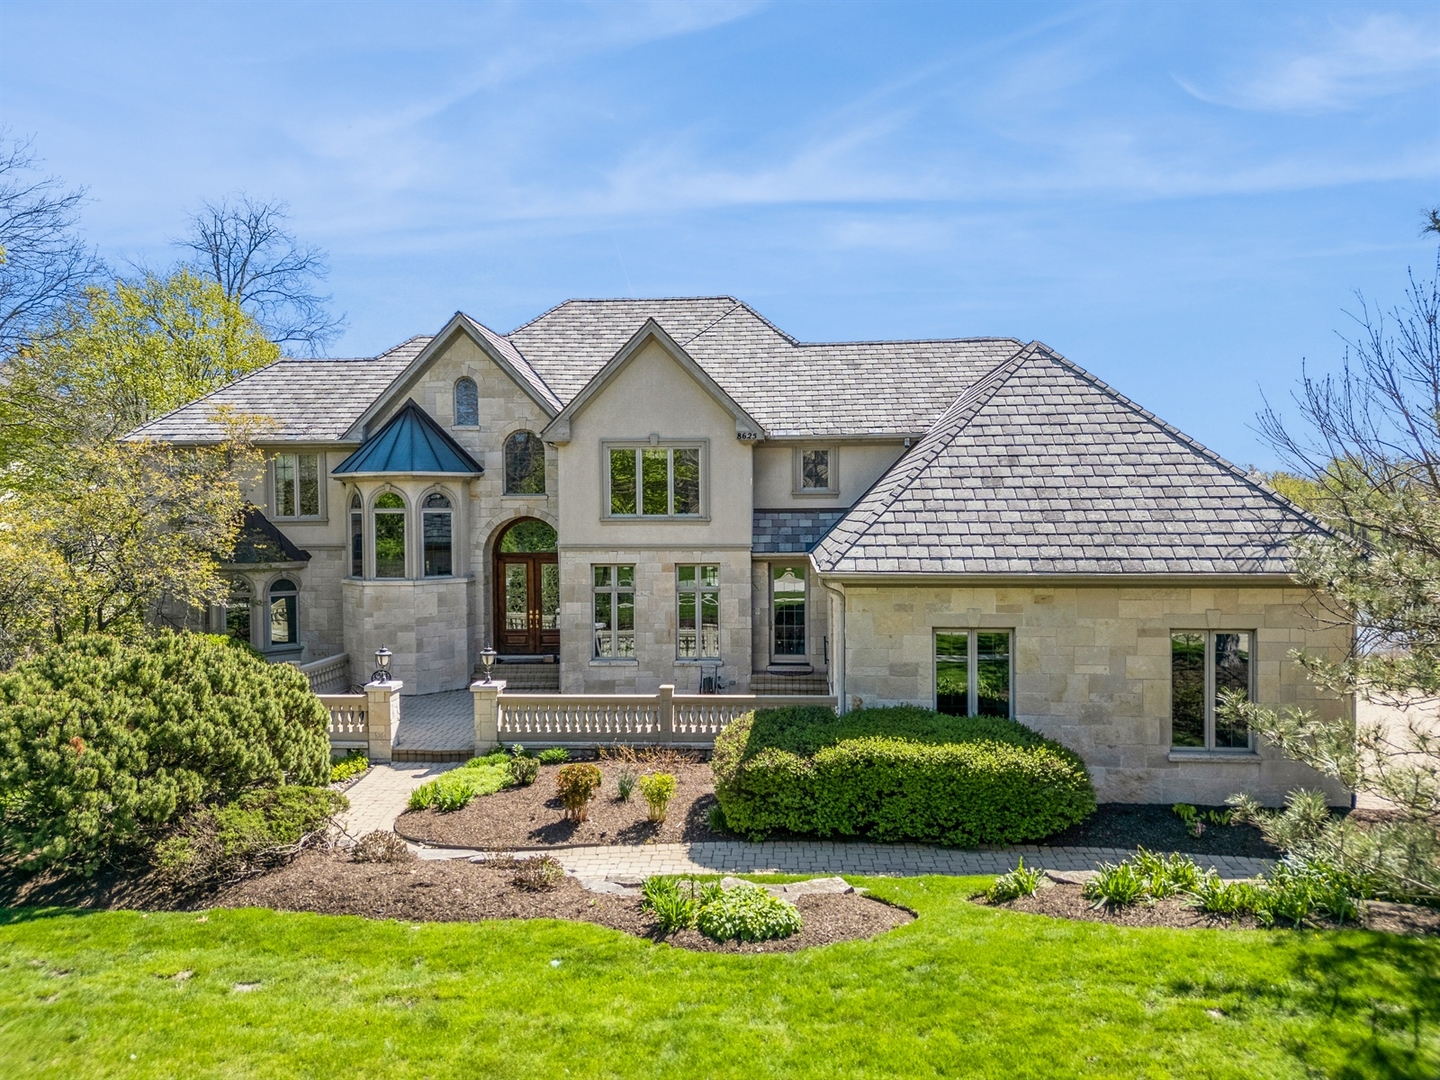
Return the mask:
[[[465,858],[482,852],[451,848],[418,848],[420,858]],[[1100,863],[1119,863],[1133,852],[1126,848],[1047,848],[1021,845],[994,851],[960,851],[924,844],[865,844],[861,841],[714,841],[704,844],[644,844],[552,851],[564,868],[582,878],[642,878],[649,874],[1001,874],[1012,870],[1021,855],[1025,865],[1044,870],[1094,870]],[[1221,877],[1254,877],[1269,873],[1272,863],[1240,855],[1205,855],[1195,861]]]

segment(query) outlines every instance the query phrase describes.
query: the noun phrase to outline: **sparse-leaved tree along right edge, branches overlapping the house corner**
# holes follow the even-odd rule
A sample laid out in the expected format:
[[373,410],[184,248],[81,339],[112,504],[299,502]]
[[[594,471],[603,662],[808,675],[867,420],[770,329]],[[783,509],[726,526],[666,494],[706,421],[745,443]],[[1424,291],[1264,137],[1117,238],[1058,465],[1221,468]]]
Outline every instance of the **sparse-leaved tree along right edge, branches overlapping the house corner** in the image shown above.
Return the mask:
[[1302,854],[1358,861],[1391,891],[1436,896],[1440,729],[1426,706],[1440,701],[1440,259],[1434,276],[1411,274],[1401,305],[1361,297],[1354,318],[1339,373],[1302,376],[1297,420],[1272,408],[1260,416],[1289,474],[1280,490],[1331,530],[1296,546],[1297,576],[1322,619],[1355,628],[1341,660],[1295,657],[1336,696],[1418,708],[1404,723],[1361,724],[1238,697],[1225,711],[1395,809],[1384,827],[1356,829],[1292,806],[1270,822],[1277,835]]

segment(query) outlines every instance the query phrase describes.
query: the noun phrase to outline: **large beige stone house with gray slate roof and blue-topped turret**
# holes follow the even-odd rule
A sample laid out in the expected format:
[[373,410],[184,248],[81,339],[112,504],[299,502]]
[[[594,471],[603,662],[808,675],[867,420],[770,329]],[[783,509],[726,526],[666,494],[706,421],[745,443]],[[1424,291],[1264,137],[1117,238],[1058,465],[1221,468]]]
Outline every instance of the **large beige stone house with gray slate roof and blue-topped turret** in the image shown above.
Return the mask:
[[459,688],[492,645],[563,693],[1001,713],[1116,801],[1320,783],[1227,727],[1225,688],[1345,707],[1287,658],[1349,642],[1290,576],[1315,523],[1040,343],[569,301],[279,360],[137,435],[216,441],[216,406],[271,428],[215,628],[354,681],[384,645],[408,694]]

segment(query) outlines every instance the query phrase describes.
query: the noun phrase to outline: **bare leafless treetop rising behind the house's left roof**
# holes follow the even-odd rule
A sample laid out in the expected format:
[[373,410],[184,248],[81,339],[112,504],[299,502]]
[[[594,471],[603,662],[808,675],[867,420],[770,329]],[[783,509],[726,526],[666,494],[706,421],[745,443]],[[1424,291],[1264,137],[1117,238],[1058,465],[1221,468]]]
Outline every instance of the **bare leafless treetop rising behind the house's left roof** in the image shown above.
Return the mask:
[[287,219],[285,203],[240,194],[203,203],[190,219],[190,235],[176,243],[194,253],[193,269],[217,282],[275,344],[321,356],[346,320],[333,318],[330,295],[314,291],[330,274],[325,252],[301,245]]

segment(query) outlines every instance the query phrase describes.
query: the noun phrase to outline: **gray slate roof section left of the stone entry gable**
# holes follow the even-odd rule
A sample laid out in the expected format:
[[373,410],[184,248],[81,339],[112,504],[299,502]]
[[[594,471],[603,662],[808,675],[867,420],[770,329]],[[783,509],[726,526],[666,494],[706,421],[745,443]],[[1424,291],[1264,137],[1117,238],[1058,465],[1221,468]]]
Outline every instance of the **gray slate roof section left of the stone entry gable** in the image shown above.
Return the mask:
[[276,360],[248,376],[166,413],[130,433],[131,439],[215,442],[225,436],[213,419],[217,406],[268,416],[266,441],[336,442],[429,344],[412,337],[376,357],[348,360]]

